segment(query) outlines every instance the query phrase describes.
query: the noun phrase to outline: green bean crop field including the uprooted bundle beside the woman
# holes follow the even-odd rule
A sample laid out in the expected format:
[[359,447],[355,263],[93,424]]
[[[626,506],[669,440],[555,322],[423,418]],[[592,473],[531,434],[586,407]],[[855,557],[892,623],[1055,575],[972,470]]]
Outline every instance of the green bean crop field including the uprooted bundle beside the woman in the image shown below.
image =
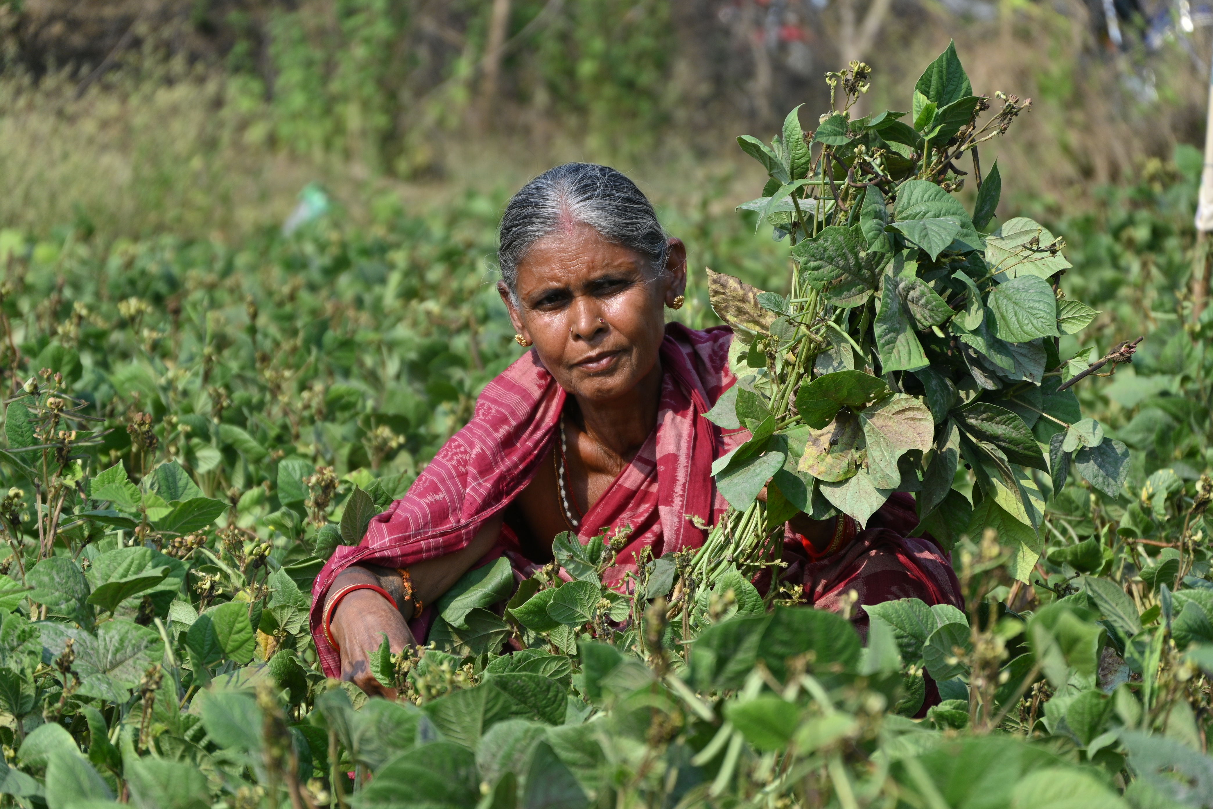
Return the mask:
[[[1201,155],[1009,211],[1026,102],[951,49],[906,113],[850,114],[865,65],[830,81],[826,115],[741,139],[753,200],[665,217],[679,317],[739,335],[712,418],[752,431],[707,551],[626,596],[611,535],[520,585],[477,568],[426,648],[375,653],[394,702],[320,672],[312,582],[520,354],[503,200],[239,246],[0,230],[0,803],[1213,805]],[[781,509],[862,522],[893,490],[964,610],[869,605],[861,637],[751,583]]]

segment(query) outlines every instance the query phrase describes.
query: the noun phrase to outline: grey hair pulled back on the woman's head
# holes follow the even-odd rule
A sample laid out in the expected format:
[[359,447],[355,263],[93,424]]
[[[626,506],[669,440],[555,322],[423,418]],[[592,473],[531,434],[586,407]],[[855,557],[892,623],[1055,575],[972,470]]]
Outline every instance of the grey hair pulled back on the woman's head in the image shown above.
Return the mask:
[[536,241],[570,223],[588,224],[606,241],[643,255],[653,277],[666,266],[668,237],[636,183],[609,166],[566,163],[523,186],[501,217],[497,263],[516,303],[518,263]]

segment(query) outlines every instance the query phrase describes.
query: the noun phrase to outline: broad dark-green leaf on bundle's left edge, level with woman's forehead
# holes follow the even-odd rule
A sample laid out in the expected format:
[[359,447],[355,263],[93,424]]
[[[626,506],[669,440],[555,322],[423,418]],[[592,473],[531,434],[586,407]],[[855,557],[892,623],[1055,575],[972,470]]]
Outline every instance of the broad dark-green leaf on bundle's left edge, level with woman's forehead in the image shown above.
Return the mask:
[[860,226],[831,224],[804,239],[792,255],[801,262],[804,281],[841,307],[856,307],[876,290],[888,253],[870,250]]

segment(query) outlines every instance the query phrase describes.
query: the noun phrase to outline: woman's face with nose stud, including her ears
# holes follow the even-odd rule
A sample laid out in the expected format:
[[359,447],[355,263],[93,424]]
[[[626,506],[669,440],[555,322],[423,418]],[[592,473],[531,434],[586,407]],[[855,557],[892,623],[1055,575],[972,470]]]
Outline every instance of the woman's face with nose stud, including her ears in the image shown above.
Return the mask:
[[569,393],[605,403],[657,368],[664,307],[687,287],[687,250],[670,240],[665,270],[588,224],[536,241],[518,264],[518,304],[499,285],[514,329]]

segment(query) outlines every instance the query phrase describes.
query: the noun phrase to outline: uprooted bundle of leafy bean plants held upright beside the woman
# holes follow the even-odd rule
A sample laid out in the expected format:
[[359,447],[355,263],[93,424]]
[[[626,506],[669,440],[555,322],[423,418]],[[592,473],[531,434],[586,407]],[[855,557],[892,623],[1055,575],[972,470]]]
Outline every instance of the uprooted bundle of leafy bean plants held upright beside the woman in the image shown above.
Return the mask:
[[[752,437],[712,469],[733,509],[695,569],[713,579],[724,559],[746,572],[778,563],[785,503],[864,525],[892,492],[912,491],[922,530],[951,547],[993,528],[1026,582],[1047,498],[1029,469],[1052,471],[1057,486],[1072,466],[1110,496],[1126,479],[1127,448],[1077,417],[1067,389],[1077,371],[1059,355],[1061,335],[1098,312],[1063,297],[1055,279],[1070,263],[1042,226],[978,230],[1002,187],[997,163],[983,182],[978,146],[1026,106],[1003,97],[983,124],[990,99],[973,96],[950,46],[918,80],[912,126],[896,112],[850,120],[867,74],[861,64],[830,74],[842,109],[816,131],[802,131],[797,108],[769,147],[738,139],[769,177],[741,207],[788,238],[795,269],[787,297],[712,275],[713,307],[738,335],[741,391],[710,417]],[[972,216],[952,195],[966,153]],[[962,462],[972,498],[953,494]],[[778,490],[767,503],[764,486]]]

